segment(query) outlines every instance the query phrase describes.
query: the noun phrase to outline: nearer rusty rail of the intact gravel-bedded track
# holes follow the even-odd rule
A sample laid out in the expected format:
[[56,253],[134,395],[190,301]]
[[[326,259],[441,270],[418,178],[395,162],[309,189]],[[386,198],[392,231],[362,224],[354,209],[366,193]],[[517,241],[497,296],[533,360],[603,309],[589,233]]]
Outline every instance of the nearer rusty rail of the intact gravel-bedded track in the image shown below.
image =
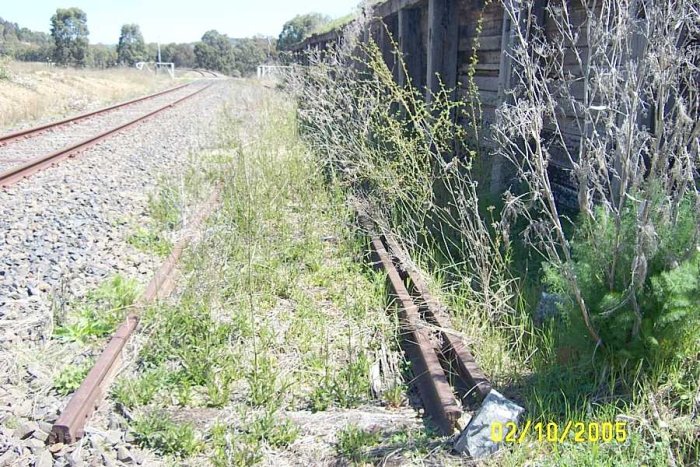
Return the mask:
[[119,133],[127,128],[130,128],[130,127],[140,123],[141,121],[146,120],[149,117],[152,117],[153,115],[156,115],[160,112],[163,112],[164,110],[167,110],[171,107],[174,107],[175,105],[177,105],[177,104],[199,94],[200,92],[208,89],[212,85],[213,85],[213,83],[208,84],[208,85],[198,89],[197,91],[186,95],[185,97],[181,97],[180,99],[177,99],[174,102],[170,102],[169,104],[164,105],[163,107],[159,107],[156,110],[153,110],[153,111],[151,111],[145,115],[142,115],[134,120],[131,120],[127,123],[119,125],[116,128],[112,128],[110,130],[107,130],[107,131],[100,133],[96,136],[92,136],[92,137],[90,137],[86,140],[83,140],[81,142],[72,144],[72,145],[67,146],[63,149],[59,149],[58,151],[54,151],[50,154],[36,157],[36,158],[30,160],[29,162],[25,162],[24,164],[21,164],[21,165],[15,166],[15,167],[11,167],[10,169],[0,173],[0,187],[6,188],[10,185],[14,185],[15,183],[19,182],[20,180],[22,180],[26,177],[29,177],[30,175],[33,175],[36,172],[38,172],[46,167],[50,167],[50,166],[66,159],[67,157],[69,157],[69,156],[71,156],[71,155],[73,155],[81,150],[84,150],[90,146],[94,146],[95,144],[99,143],[100,141],[105,140],[105,139],[107,139],[107,138],[115,135],[116,133]]

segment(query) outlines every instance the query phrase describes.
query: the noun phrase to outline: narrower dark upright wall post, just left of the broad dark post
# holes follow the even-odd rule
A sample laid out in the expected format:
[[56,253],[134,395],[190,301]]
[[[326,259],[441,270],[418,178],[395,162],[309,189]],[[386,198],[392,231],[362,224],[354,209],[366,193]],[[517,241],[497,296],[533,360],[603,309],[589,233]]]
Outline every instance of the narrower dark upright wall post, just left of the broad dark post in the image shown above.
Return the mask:
[[423,38],[421,37],[420,8],[399,10],[399,49],[405,66],[399,64],[398,83],[409,83],[422,89],[425,86],[425,63],[423,63]]

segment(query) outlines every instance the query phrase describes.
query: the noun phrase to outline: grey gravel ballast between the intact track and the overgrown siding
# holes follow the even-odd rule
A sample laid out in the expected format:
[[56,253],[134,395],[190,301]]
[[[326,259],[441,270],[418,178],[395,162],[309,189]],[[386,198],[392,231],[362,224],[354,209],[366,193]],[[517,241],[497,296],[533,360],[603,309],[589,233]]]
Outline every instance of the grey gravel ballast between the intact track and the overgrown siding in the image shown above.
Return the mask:
[[162,258],[127,240],[147,221],[159,178],[177,177],[191,154],[212,145],[222,107],[241,105],[240,85],[216,83],[0,192],[0,465],[53,462],[42,438],[67,400],[54,381],[99,347],[56,339],[57,317],[109,277],[141,287],[150,279]]

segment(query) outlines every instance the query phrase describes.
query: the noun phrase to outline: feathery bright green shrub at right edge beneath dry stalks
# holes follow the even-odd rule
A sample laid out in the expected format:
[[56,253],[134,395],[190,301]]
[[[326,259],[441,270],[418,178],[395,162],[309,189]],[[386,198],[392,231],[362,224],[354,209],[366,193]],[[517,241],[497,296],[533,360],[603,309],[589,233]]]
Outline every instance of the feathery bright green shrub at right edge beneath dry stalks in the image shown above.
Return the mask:
[[[692,330],[700,323],[696,207],[686,197],[673,215],[657,193],[650,189],[637,196],[646,200],[628,203],[619,228],[606,210],[596,209],[579,222],[571,242],[570,266],[591,321],[605,353],[618,362],[670,363],[693,345]],[[650,203],[652,215],[639,226],[643,203]],[[636,254],[639,243],[648,255]],[[560,343],[590,349],[590,340],[577,340],[585,328],[562,268],[548,263],[545,283],[569,298]]]

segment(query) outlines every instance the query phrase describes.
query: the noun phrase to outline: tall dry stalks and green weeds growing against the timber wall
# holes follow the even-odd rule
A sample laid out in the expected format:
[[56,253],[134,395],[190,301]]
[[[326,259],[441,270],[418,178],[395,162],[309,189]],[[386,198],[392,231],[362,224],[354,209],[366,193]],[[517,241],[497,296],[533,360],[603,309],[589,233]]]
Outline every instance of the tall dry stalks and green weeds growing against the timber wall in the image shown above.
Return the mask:
[[[643,13],[636,3],[602,5],[602,13],[588,12],[587,32],[571,30],[565,5],[548,7],[562,36],[555,44],[530,47],[531,37],[516,37],[515,104],[504,104],[489,130],[519,183],[495,201],[477,183],[487,178],[478,169],[490,155],[469,149],[477,147],[473,129],[485,130],[475,121],[478,102],[451,102],[443,90],[428,106],[423,90],[398,87],[376,45],[356,40],[361,20],[338,49],[311,56],[288,81],[303,137],[433,275],[495,387],[521,401],[533,421],[629,422],[623,445],[525,443],[495,458],[505,465],[668,465],[700,455],[693,427],[700,413],[698,94],[689,84],[697,24],[685,2],[648,4]],[[524,11],[527,18],[511,23],[529,19]],[[581,154],[567,155],[582,187],[583,214],[574,218],[560,211],[547,167],[566,147],[557,116],[582,105],[569,94],[580,74],[562,71],[551,82],[549,70],[565,69],[557,61],[577,50],[569,42],[584,32],[593,58],[579,62],[588,86],[579,123],[590,138]],[[640,35],[649,53],[628,63]],[[537,69],[542,63],[547,68]],[[606,105],[598,105],[603,97]],[[653,109],[654,132],[638,120]],[[540,137],[543,122],[553,137]],[[545,287],[559,294],[560,318],[536,327]]]

